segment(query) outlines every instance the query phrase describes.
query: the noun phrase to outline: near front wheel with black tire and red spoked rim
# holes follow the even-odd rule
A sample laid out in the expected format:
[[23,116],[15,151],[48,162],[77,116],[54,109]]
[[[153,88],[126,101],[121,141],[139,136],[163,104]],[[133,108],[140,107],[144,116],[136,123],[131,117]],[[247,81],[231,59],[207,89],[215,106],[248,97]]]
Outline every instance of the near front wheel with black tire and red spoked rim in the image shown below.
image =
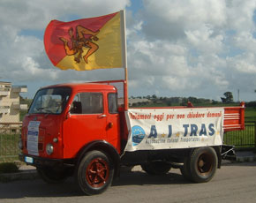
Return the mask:
[[101,151],[88,152],[79,162],[76,179],[81,192],[87,195],[100,194],[107,190],[114,177],[114,167],[107,154]]

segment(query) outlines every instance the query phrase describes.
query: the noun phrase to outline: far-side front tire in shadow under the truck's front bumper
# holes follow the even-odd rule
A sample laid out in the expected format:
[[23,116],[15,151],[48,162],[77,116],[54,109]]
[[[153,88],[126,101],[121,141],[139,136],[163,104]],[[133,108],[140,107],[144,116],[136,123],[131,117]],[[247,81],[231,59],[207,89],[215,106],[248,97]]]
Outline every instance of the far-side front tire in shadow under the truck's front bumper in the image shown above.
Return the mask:
[[50,167],[36,168],[41,179],[48,184],[61,184],[69,177],[66,169],[56,169]]

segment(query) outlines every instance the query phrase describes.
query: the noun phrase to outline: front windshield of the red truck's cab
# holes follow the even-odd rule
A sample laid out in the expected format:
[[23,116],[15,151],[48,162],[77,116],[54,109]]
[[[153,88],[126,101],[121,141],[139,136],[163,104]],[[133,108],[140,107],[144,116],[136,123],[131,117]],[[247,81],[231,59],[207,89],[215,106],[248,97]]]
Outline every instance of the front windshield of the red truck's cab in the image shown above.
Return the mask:
[[29,114],[61,114],[72,90],[68,87],[45,88],[37,92]]

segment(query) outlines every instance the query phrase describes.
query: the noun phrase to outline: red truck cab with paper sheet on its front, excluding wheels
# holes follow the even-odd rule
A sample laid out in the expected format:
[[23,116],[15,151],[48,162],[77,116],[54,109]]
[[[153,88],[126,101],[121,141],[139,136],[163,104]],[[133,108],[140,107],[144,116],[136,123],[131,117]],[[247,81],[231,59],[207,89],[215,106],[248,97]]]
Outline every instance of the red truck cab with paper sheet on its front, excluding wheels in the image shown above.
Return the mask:
[[[37,129],[32,124],[37,124]],[[107,142],[120,152],[119,126],[116,87],[47,86],[37,92],[24,119],[23,153],[72,159],[95,140]]]

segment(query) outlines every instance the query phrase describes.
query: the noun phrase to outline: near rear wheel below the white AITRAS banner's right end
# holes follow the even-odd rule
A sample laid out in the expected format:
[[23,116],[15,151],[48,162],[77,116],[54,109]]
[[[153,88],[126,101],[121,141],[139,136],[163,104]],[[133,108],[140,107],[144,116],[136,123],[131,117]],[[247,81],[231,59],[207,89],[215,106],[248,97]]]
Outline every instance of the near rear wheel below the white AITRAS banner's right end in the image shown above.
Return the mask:
[[191,155],[189,178],[195,183],[206,183],[214,176],[218,157],[213,147],[196,148]]

